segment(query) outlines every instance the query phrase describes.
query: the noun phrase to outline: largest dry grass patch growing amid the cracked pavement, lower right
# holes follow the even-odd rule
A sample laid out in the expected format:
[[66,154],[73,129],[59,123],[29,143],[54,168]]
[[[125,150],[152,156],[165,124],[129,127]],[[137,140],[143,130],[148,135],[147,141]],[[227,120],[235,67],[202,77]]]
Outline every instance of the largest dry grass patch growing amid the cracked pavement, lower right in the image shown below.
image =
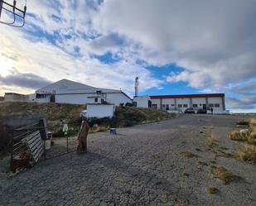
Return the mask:
[[237,175],[234,175],[223,166],[211,165],[210,171],[216,178],[220,179],[223,184],[229,184],[231,181],[238,179]]

